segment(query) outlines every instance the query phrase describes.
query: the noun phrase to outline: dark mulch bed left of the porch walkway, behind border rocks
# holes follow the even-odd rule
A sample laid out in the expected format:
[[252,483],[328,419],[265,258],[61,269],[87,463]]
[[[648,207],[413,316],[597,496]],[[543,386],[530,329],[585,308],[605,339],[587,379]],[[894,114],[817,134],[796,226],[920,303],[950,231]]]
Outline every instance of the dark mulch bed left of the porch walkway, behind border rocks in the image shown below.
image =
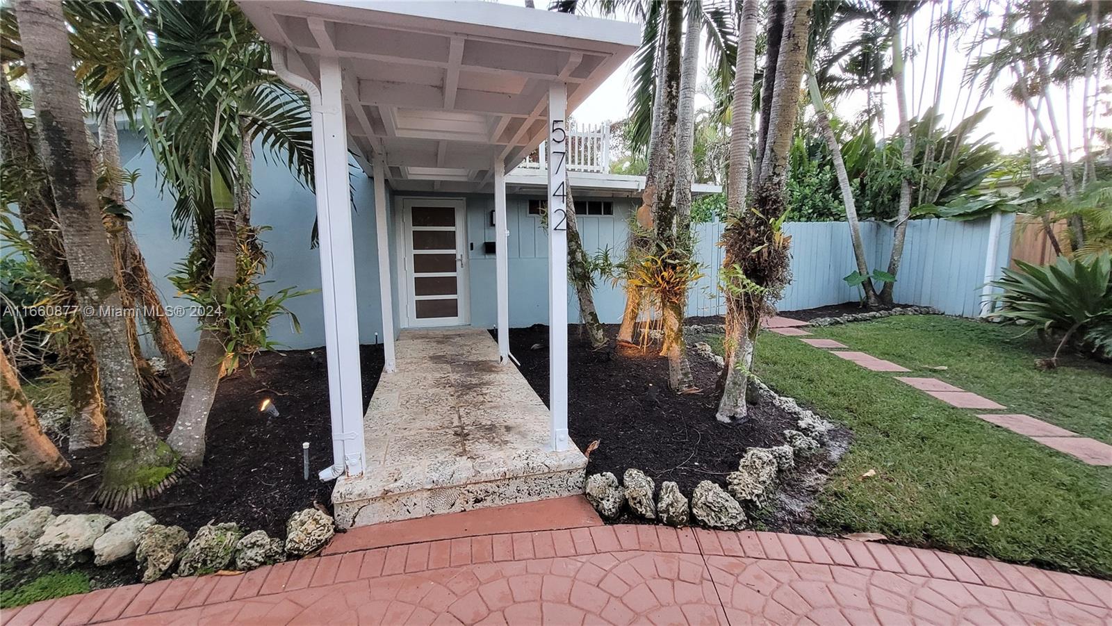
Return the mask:
[[[366,407],[383,369],[383,347],[363,346],[360,355]],[[73,466],[68,476],[20,488],[34,496],[36,506],[50,506],[59,514],[105,513],[119,518],[147,510],[160,523],[190,533],[215,519],[285,537],[291,514],[314,501],[330,503],[332,483],[317,478],[317,471],[332,463],[325,349],[265,352],[255,358],[251,369],[220,381],[209,415],[205,466],[159,497],[117,511],[93,503],[103,448],[67,455]],[[177,418],[186,381],[170,385],[169,393],[143,400],[147,415],[163,436]],[[272,399],[279,417],[268,420],[259,411],[265,398]],[[308,480],[302,474],[302,441],[309,443]]]

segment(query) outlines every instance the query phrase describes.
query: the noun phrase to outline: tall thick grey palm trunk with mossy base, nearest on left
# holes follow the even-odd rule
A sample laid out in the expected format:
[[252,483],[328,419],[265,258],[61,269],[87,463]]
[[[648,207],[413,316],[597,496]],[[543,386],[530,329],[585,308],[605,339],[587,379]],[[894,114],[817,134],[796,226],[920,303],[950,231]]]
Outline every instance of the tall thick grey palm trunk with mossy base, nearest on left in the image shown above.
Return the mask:
[[89,312],[86,329],[100,367],[110,449],[97,498],[109,506],[128,506],[172,480],[178,459],[143,413],[127,326],[112,315],[122,302],[100,217],[92,150],[86,140],[61,4],[19,0],[14,6],[72,286],[78,304]]

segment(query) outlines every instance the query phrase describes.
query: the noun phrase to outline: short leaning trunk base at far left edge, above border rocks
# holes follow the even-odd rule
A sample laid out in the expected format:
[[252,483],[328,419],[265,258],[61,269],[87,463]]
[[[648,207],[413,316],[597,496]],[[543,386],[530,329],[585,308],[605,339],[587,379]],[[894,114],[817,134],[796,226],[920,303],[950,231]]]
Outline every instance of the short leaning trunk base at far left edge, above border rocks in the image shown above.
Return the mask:
[[42,431],[34,407],[23,395],[16,368],[0,349],[0,439],[18,459],[19,469],[29,476],[64,474],[69,461]]

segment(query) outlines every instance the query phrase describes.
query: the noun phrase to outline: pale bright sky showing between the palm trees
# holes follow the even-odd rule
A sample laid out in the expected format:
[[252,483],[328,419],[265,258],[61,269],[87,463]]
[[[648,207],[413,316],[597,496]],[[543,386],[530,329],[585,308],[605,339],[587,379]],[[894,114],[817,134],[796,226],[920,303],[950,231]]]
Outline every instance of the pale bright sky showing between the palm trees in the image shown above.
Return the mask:
[[[524,6],[524,0],[499,0],[504,3]],[[546,0],[536,0],[537,7],[546,6]],[[993,11],[1002,10],[1003,4],[994,4]],[[939,3],[934,4],[934,11],[937,14],[942,13],[942,6]],[[623,19],[623,18],[618,18]],[[995,16],[990,18],[990,23],[996,23],[999,18]],[[629,21],[633,21],[632,19]],[[912,46],[914,43],[915,54],[914,59],[907,66],[907,91],[909,99],[911,100],[911,115],[914,117],[921,113],[923,109],[930,106],[933,100],[934,89],[936,86],[937,69],[936,63],[940,59],[939,47],[935,44],[932,50],[927,51],[925,49],[925,42],[929,39],[927,33],[930,32],[932,23],[932,6],[927,6],[921,9],[913,22],[907,29],[905,37],[905,46]],[[946,53],[946,64],[944,67],[943,79],[942,79],[942,96],[940,101],[942,102],[942,110],[945,116],[944,123],[949,127],[955,123],[956,120],[962,118],[962,112],[966,111],[965,115],[971,115],[976,110],[976,105],[980,100],[981,107],[992,107],[992,112],[986,117],[986,119],[977,127],[980,135],[987,135],[990,141],[996,142],[996,145],[1005,152],[1017,152],[1026,150],[1026,138],[1024,135],[1024,128],[1027,123],[1024,120],[1023,106],[1012,101],[1006,93],[1006,90],[1012,86],[1014,79],[1011,76],[1004,77],[993,89],[983,98],[980,99],[980,88],[975,90],[970,99],[971,89],[962,85],[962,77],[964,72],[965,59],[979,53],[977,50],[970,50],[970,40],[976,34],[973,32],[975,29],[970,29],[970,32],[964,37],[959,37],[956,33],[951,36],[950,44],[947,46]],[[705,80],[705,59],[701,60],[699,69],[699,81]],[[579,106],[575,111],[574,118],[579,122],[585,123],[596,123],[602,121],[615,121],[625,118],[628,115],[628,101],[629,101],[629,89],[631,89],[631,72],[632,72],[633,61],[632,59],[623,63],[603,85],[589,97],[587,100]],[[921,98],[920,93],[925,92],[926,98]],[[1078,153],[1082,145],[1082,131],[1081,131],[1081,116],[1082,116],[1082,102],[1081,102],[1081,86],[1078,85],[1076,88],[1072,90],[1072,99],[1066,107],[1065,98],[1061,90],[1056,90],[1054,97],[1054,103],[1056,107],[1056,121],[1060,129],[1060,133],[1063,138],[1063,142],[1068,145],[1066,150]],[[1109,101],[1109,96],[1105,95],[1103,102]],[[838,116],[853,119],[861,113],[865,106],[865,95],[855,93],[851,95],[843,100],[835,103],[835,110]],[[966,106],[966,101],[969,105]],[[896,113],[895,97],[892,92],[892,88],[888,87],[887,92],[884,97],[885,101],[885,115],[884,115],[884,130],[891,133],[895,130],[898,116]],[[708,100],[702,95],[696,96],[695,106],[696,108],[701,106],[708,105]],[[1046,125],[1049,119],[1044,116],[1043,123]],[[1048,125],[1049,126],[1049,125]],[[1098,120],[1098,127],[1108,128],[1112,126],[1112,119],[1108,116],[1102,116]]]

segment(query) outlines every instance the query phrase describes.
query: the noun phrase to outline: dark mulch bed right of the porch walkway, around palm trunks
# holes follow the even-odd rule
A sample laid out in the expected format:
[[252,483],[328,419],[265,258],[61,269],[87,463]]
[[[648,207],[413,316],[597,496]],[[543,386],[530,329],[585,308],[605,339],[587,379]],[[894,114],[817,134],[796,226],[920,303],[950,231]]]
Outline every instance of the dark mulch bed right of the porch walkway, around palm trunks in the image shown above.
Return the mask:
[[[607,327],[612,340],[616,331],[616,326]],[[783,430],[796,428],[793,417],[764,401],[751,405],[749,418],[742,424],[717,421],[717,369],[694,352],[688,360],[702,390],[676,395],[667,388],[667,360],[654,350],[620,345],[598,354],[577,326],[570,326],[568,335],[568,429],[580,449],[598,440],[588,475],[612,471],[620,480],[633,467],[648,474],[657,487],[663,480],[676,481],[689,496],[701,480],[725,486],[726,475],[737,470],[746,448],[783,444]],[[514,328],[509,341],[522,374],[547,403],[548,327]],[[535,345],[540,348],[532,349]],[[834,439],[844,444],[848,433],[840,430]],[[757,518],[774,529],[810,527],[806,509],[834,460],[824,453],[801,463],[800,470],[780,485],[780,504],[766,507]]]

